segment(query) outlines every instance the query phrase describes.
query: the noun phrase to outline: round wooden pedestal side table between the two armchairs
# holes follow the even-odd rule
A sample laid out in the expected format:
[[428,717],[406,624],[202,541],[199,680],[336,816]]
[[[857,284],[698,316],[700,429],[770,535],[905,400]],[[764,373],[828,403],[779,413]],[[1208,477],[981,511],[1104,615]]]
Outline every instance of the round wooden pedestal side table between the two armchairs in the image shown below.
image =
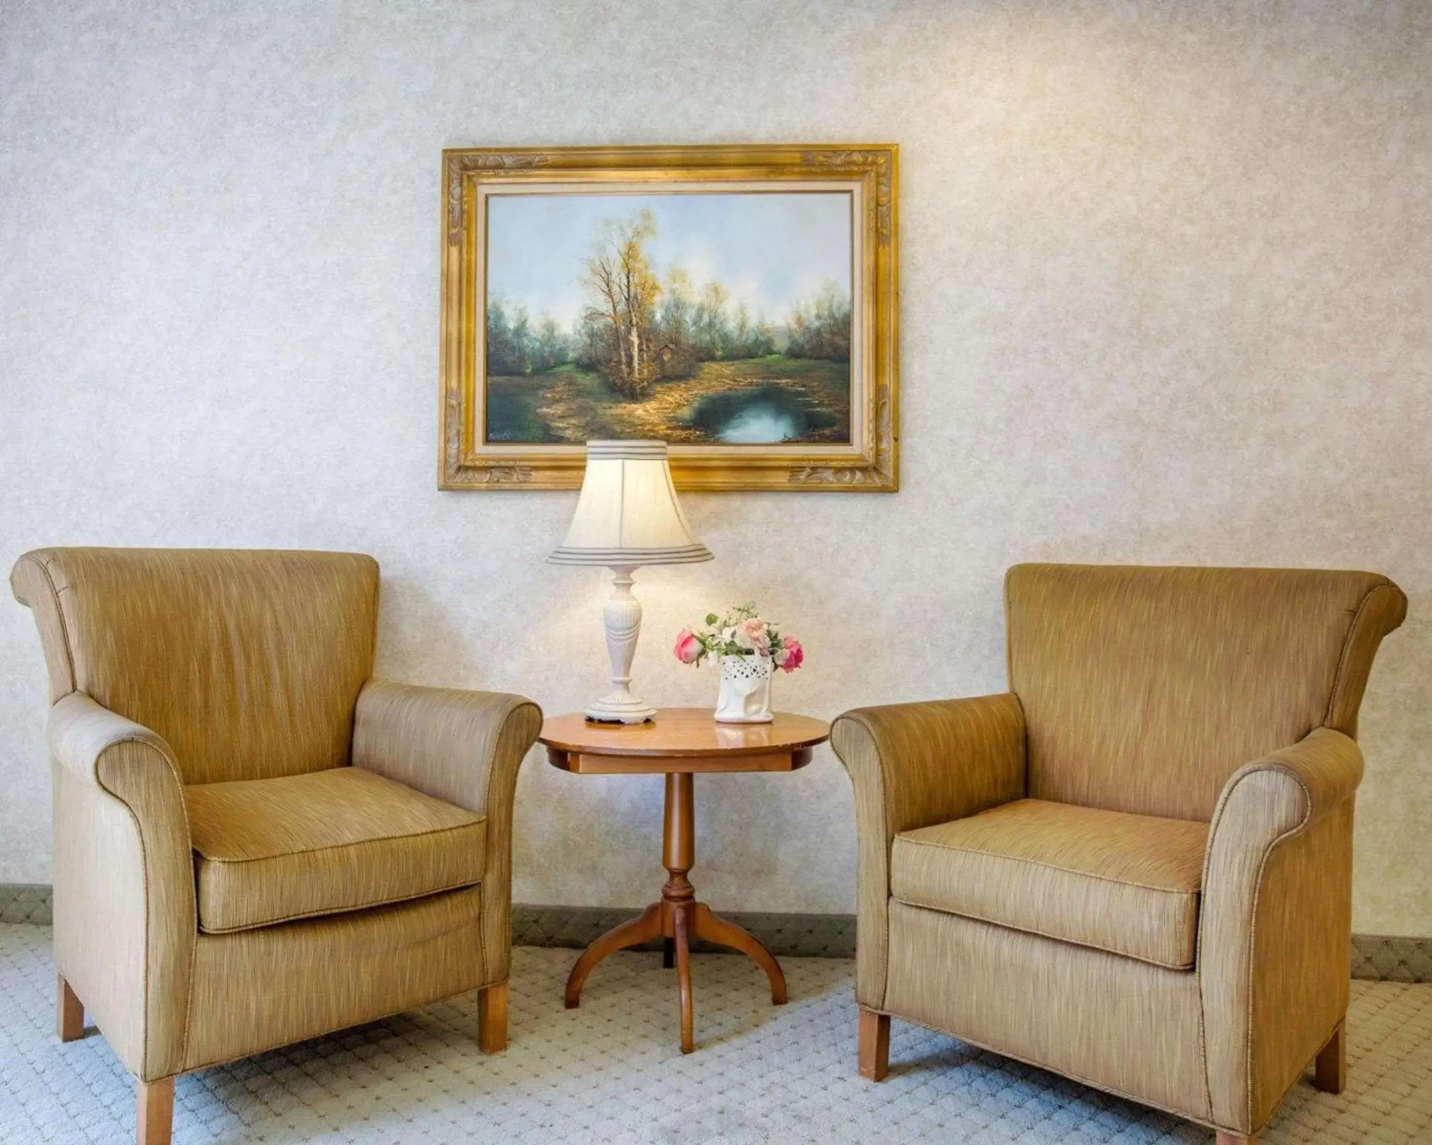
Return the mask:
[[646,724],[594,724],[580,713],[543,723],[541,741],[553,767],[576,774],[666,776],[666,837],[662,864],[667,880],[660,900],[613,927],[577,959],[567,978],[567,1009],[581,1002],[581,985],[607,955],[663,939],[666,966],[676,965],[682,999],[682,1052],[690,1053],[690,943],[706,939],[749,955],[770,979],[770,1000],[786,1000],[786,976],[765,945],[749,930],[696,902],[687,873],[696,863],[692,776],[697,771],[795,771],[811,761],[811,749],[831,734],[825,720],[778,711],[769,724],[719,724],[712,708],[669,707]]

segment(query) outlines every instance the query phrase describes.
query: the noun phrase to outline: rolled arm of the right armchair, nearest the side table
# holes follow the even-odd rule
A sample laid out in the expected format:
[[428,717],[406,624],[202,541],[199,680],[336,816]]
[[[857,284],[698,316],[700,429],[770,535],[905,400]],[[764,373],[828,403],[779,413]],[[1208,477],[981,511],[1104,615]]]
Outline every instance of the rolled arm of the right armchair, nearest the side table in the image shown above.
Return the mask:
[[855,708],[831,746],[855,787],[855,996],[882,1009],[891,843],[1024,796],[1024,708],[1012,693]]

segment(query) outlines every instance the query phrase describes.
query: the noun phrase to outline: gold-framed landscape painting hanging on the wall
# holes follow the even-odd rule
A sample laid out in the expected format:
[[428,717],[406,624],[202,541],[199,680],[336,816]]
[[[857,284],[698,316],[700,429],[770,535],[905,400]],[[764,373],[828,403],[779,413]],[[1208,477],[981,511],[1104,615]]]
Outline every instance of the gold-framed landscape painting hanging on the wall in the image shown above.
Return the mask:
[[442,153],[444,489],[567,489],[659,438],[683,489],[898,487],[898,150]]

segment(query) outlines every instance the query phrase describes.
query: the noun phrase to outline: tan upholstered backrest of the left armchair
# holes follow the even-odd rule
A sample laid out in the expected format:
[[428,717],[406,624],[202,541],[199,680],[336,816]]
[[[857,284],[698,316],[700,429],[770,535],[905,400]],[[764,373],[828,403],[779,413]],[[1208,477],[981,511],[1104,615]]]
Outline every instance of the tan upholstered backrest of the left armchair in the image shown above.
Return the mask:
[[371,557],[43,548],[10,584],[40,628],[50,703],[82,691],[158,731],[185,783],[348,763],[377,640]]

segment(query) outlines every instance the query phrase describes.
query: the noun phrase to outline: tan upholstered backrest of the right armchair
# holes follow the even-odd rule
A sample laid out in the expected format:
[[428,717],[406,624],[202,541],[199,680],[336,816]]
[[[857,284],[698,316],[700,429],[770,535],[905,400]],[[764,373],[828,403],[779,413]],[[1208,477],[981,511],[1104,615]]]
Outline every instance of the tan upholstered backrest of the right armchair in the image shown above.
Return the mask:
[[1373,572],[1015,565],[1028,793],[1209,820],[1249,760],[1319,726],[1356,736],[1378,644],[1405,615]]

